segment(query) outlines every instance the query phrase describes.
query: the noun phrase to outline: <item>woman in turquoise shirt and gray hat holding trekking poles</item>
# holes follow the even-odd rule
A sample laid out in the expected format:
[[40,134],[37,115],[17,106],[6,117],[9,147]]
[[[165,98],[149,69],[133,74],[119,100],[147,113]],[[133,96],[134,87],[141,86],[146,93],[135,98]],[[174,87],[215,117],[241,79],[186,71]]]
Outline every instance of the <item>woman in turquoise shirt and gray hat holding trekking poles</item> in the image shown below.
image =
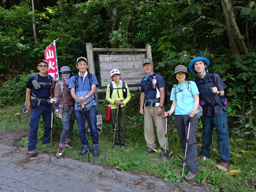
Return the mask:
[[[165,117],[175,112],[175,126],[178,130],[180,144],[185,159],[185,162],[180,166],[188,167],[188,174],[185,176],[185,181],[187,182],[194,180],[199,172],[196,144],[196,114],[199,104],[199,92],[195,82],[186,81],[186,78],[189,77],[190,74],[185,66],[176,66],[172,78],[178,80],[178,84],[174,85],[172,88],[170,98],[170,100],[172,100],[171,109],[168,112],[164,112]],[[191,123],[189,128],[187,122],[190,120]],[[188,144],[186,144],[188,134]]]

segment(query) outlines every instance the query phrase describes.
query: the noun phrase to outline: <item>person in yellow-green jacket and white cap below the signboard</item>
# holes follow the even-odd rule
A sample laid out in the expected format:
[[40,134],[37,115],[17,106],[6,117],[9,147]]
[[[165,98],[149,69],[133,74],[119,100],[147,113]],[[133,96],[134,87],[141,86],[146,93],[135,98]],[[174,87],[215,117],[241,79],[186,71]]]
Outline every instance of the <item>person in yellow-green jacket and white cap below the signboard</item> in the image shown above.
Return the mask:
[[[112,82],[108,84],[106,91],[106,100],[110,103],[110,116],[114,129],[116,129],[114,146],[117,148],[126,147],[126,104],[130,101],[131,95],[128,85],[121,80],[121,74],[118,69],[113,69],[110,72]],[[118,109],[118,121],[116,115]]]

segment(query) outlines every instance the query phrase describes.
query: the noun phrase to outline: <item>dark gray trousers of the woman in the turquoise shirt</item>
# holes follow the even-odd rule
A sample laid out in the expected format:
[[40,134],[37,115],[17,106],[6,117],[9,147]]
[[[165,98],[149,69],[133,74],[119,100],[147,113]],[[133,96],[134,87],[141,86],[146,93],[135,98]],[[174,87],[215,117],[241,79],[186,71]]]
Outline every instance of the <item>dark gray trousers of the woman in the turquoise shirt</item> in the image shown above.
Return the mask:
[[186,140],[188,136],[188,146],[186,152],[186,161],[188,163],[188,171],[191,173],[198,173],[198,162],[197,162],[197,144],[196,144],[196,127],[197,127],[197,116],[192,117],[190,130],[188,135],[187,120],[189,115],[175,115],[175,125],[178,130],[180,137],[180,144],[182,146],[183,155],[185,157],[186,151]]

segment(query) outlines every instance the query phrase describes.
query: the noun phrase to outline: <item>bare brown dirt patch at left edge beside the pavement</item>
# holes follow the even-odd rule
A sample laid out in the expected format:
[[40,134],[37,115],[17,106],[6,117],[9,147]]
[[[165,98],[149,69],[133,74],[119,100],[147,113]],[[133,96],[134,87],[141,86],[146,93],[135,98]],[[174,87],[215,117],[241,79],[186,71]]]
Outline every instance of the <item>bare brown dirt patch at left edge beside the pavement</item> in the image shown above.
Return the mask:
[[30,129],[0,130],[0,144],[15,146],[22,138],[28,137]]

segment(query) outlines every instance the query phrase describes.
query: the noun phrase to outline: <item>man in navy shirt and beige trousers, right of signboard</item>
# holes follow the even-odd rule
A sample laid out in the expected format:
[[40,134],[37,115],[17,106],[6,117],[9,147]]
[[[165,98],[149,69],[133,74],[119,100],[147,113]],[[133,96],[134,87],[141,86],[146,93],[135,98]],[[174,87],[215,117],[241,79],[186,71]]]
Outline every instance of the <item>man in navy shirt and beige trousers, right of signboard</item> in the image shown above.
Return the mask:
[[[141,82],[140,94],[140,114],[144,114],[144,136],[148,149],[146,153],[153,153],[156,149],[154,124],[158,142],[161,146],[161,155],[164,157],[165,151],[165,119],[164,119],[164,88],[165,83],[161,75],[153,72],[154,64],[151,58],[146,58],[142,62],[142,68],[146,73]],[[143,110],[144,106],[144,110]],[[168,150],[168,138],[166,140],[166,150]]]

